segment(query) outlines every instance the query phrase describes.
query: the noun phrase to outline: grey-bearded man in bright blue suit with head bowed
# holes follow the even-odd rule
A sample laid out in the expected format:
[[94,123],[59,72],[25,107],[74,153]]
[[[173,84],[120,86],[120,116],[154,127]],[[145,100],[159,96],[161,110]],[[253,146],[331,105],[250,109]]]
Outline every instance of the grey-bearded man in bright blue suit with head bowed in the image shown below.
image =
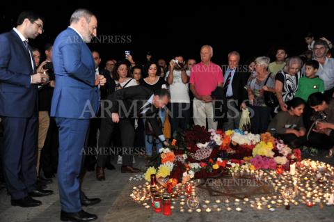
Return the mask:
[[57,173],[62,221],[97,219],[95,214],[81,209],[79,189],[81,153],[89,119],[95,116],[100,103],[97,85],[106,83],[103,75],[95,77],[92,52],[86,45],[96,33],[96,17],[86,9],[78,9],[70,18],[70,26],[54,42],[52,61],[56,87],[51,116],[56,117],[59,127]]

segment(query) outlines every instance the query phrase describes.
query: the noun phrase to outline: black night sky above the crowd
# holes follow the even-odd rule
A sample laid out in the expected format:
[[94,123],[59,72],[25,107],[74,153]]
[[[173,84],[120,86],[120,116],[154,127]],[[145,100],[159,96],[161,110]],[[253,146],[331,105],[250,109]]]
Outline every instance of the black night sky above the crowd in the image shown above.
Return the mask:
[[[0,9],[0,32],[16,26],[17,15],[32,9],[45,17],[45,33],[31,41],[42,47],[53,42],[56,35],[69,25],[70,15],[77,8],[87,8],[97,15],[97,35],[111,35],[113,41],[91,43],[100,51],[102,60],[124,58],[130,50],[134,60],[143,61],[145,51],[155,58],[168,61],[175,54],[200,61],[200,47],[214,48],[213,61],[227,62],[229,51],[241,53],[241,62],[250,56],[272,57],[277,45],[287,47],[289,56],[307,49],[304,35],[308,31],[315,38],[325,36],[334,41],[333,10],[330,1],[8,1],[11,6]],[[117,42],[116,35],[128,36],[131,42]],[[104,62],[102,61],[102,63]]]

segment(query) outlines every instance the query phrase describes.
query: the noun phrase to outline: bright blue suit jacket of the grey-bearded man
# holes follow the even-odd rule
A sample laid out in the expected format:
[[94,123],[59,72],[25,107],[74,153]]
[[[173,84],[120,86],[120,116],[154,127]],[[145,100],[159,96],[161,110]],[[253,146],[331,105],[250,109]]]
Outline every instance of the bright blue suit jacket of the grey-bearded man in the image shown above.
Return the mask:
[[95,86],[92,52],[72,28],[61,32],[52,53],[56,87],[51,102],[51,116],[63,118],[95,117],[100,95]]

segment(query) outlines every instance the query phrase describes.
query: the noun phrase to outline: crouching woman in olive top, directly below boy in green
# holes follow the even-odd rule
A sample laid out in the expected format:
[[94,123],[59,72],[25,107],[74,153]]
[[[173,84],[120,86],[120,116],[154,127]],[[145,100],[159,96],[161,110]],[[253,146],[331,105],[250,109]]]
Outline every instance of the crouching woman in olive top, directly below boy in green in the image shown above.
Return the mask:
[[280,111],[269,124],[269,131],[275,131],[274,136],[282,139],[290,148],[298,148],[306,142],[306,129],[301,116],[304,108],[304,100],[294,97],[287,102],[287,111]]

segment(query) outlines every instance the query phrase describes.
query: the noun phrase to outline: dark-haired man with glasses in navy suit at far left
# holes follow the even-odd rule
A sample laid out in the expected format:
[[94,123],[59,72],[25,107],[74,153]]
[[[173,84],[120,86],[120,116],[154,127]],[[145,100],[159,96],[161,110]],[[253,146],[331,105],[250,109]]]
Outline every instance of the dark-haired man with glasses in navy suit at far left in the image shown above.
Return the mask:
[[31,197],[53,193],[36,189],[38,84],[47,75],[36,73],[28,39],[40,35],[43,24],[41,17],[24,11],[17,19],[17,27],[0,35],[1,151],[13,206],[35,207],[42,202]]

